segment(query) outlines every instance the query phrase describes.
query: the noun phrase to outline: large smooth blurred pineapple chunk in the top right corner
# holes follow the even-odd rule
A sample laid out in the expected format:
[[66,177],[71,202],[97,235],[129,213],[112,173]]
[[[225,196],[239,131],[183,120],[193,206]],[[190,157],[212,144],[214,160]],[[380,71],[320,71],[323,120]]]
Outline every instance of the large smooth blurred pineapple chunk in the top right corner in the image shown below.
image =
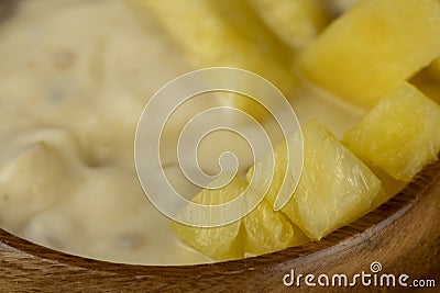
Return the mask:
[[365,0],[334,21],[298,59],[312,82],[374,106],[440,55],[440,1]]

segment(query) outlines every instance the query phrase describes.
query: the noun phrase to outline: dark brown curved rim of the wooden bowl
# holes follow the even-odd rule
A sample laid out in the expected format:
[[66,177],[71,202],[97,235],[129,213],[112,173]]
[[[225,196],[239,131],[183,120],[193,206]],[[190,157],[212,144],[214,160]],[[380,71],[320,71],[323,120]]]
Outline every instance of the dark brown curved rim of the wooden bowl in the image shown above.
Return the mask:
[[370,238],[382,227],[395,222],[410,210],[420,199],[432,189],[436,182],[440,182],[440,161],[428,165],[420,171],[413,181],[382,204],[376,210],[370,212],[363,217],[356,219],[348,226],[344,226],[320,241],[309,241],[300,246],[289,247],[276,252],[266,253],[257,257],[251,257],[239,260],[185,264],[185,266],[148,266],[148,264],[128,264],[109,262],[97,259],[89,259],[80,256],[68,255],[51,248],[33,244],[29,240],[14,236],[3,229],[0,229],[0,255],[3,251],[12,253],[25,255],[30,258],[35,258],[41,261],[76,267],[86,270],[114,272],[119,274],[144,274],[144,275],[161,275],[162,273],[191,273],[207,272],[210,270],[224,272],[228,274],[240,273],[243,270],[254,270],[261,268],[272,268],[286,261],[298,260],[305,257],[310,257],[316,252],[330,250],[336,246],[353,246]]

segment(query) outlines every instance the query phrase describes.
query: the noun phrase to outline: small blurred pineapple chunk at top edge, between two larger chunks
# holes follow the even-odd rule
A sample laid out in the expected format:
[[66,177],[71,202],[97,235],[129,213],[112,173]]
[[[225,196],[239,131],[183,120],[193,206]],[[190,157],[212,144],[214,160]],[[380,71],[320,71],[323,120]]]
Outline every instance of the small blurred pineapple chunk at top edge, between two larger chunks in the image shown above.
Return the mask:
[[320,0],[249,0],[265,23],[286,43],[300,48],[324,27],[330,15]]

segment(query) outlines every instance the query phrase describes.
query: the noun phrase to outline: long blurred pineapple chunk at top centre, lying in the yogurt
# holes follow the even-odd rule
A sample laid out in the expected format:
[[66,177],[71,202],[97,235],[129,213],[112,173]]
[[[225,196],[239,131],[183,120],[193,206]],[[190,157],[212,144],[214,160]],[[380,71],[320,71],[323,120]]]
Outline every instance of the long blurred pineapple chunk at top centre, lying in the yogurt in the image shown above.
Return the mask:
[[238,67],[284,92],[297,84],[292,53],[244,1],[138,0],[196,67]]

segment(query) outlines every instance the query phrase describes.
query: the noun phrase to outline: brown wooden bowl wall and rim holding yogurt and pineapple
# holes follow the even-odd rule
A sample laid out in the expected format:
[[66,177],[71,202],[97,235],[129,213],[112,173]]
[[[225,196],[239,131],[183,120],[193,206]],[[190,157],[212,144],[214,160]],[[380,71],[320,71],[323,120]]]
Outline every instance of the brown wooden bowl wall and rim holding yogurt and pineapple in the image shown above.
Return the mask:
[[[238,261],[182,267],[117,264],[57,252],[0,230],[0,291],[304,292],[309,290],[305,284],[299,289],[283,284],[290,269],[317,277],[352,277],[362,271],[371,273],[373,261],[382,263],[381,273],[436,279],[440,290],[439,211],[437,162],[391,201],[320,243]],[[316,288],[314,292],[332,290],[340,292],[341,288]],[[374,288],[358,286],[356,291],[374,292]]]

